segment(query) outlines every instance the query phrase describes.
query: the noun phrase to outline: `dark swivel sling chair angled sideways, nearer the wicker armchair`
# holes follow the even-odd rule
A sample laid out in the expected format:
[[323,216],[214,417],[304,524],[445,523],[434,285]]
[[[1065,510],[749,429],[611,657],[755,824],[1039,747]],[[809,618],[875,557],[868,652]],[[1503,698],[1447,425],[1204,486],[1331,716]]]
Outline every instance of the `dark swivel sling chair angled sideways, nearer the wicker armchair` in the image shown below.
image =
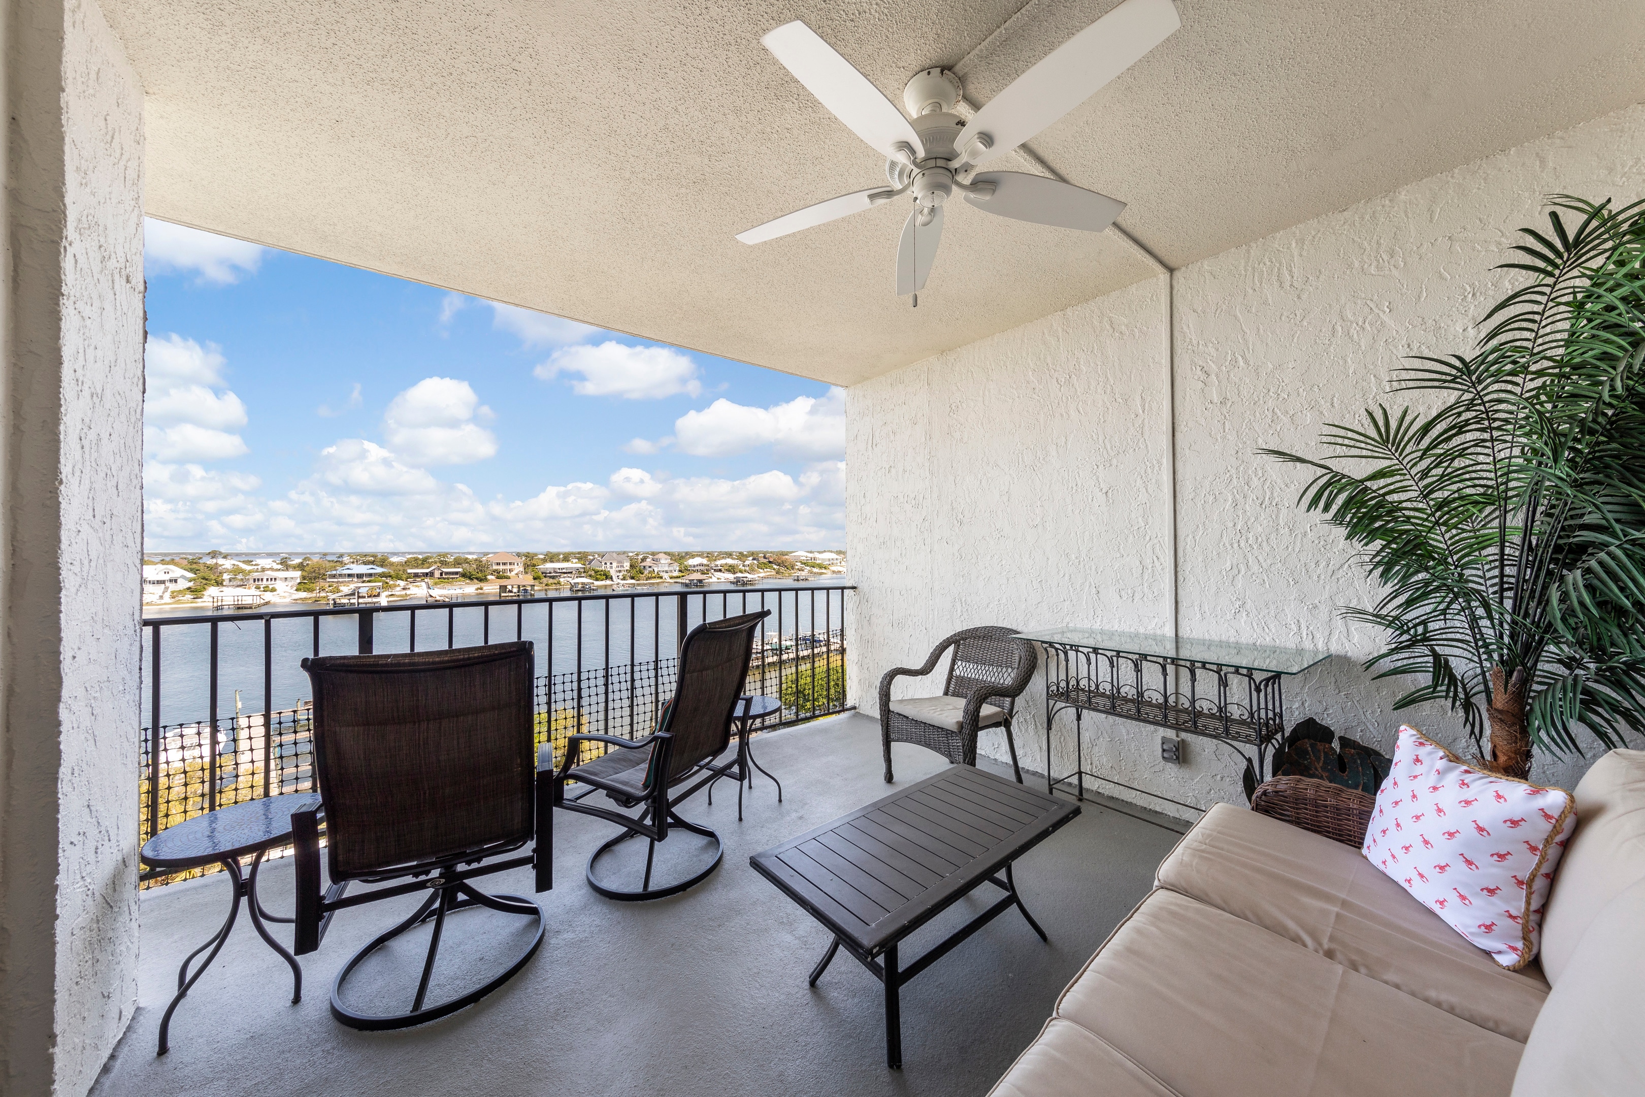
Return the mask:
[[[772,610],[727,617],[725,620],[697,625],[686,635],[679,648],[679,678],[673,699],[663,706],[656,730],[642,740],[615,735],[569,735],[566,757],[553,778],[554,806],[586,816],[615,822],[623,829],[589,855],[589,886],[612,900],[658,900],[678,895],[701,883],[719,868],[724,847],[719,834],[709,827],[681,819],[674,806],[689,799],[706,785],[737,770],[737,757],[716,765],[714,758],[730,745],[730,724],[737,699],[747,691],[748,660],[753,655],[753,633]],[[609,750],[591,761],[577,765],[582,743],[605,743]],[[543,747],[541,761],[551,765],[549,747]],[[566,785],[577,781],[586,791],[568,796]],[[694,781],[694,783],[693,783]],[[683,793],[670,789],[688,785]],[[643,808],[638,816],[628,816],[610,808],[584,803],[594,793],[604,793],[620,808]],[[674,827],[714,839],[714,855],[707,867],[684,880],[651,886],[651,865],[656,844]],[[594,870],[595,862],[622,842],[633,837],[646,839],[645,877],[638,890],[602,883]]]

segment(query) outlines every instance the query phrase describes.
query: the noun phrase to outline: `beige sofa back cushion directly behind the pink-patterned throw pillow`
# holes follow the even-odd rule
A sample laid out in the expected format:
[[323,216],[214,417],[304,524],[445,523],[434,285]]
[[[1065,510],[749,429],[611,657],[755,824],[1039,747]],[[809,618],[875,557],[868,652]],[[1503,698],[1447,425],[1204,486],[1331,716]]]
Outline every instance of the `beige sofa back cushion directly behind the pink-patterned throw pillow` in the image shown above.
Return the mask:
[[1587,923],[1645,878],[1645,750],[1612,750],[1576,786],[1576,834],[1543,913],[1541,964],[1559,982]]

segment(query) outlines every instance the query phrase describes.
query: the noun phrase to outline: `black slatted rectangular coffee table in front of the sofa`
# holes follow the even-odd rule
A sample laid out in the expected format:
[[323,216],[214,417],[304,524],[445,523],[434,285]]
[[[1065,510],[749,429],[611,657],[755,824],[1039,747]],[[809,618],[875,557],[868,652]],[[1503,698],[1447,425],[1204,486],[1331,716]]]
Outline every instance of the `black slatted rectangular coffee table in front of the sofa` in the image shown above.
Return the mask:
[[[1017,893],[1012,862],[1077,814],[1077,804],[952,766],[748,862],[834,934],[811,970],[813,987],[842,946],[885,984],[885,1062],[898,1069],[905,982],[1012,906],[1046,939]],[[898,967],[897,944],[982,883],[1005,895]]]

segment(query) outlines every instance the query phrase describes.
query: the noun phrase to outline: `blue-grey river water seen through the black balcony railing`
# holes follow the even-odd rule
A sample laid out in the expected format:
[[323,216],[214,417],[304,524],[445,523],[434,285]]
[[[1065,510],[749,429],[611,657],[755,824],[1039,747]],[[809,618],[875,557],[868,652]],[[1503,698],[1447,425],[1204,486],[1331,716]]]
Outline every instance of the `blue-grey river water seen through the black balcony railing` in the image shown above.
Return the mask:
[[[822,584],[767,584],[760,587],[714,586],[686,589],[673,584],[648,586],[615,597],[581,602],[497,605],[485,600],[423,602],[411,599],[378,609],[373,622],[377,653],[410,651],[413,617],[416,650],[472,646],[515,640],[536,643],[536,673],[563,674],[627,663],[648,663],[661,648],[665,658],[678,646],[679,612],[686,628],[704,620],[735,617],[760,609],[772,610],[758,638],[767,650],[793,648],[796,633],[832,632],[844,625],[844,590],[822,590]],[[271,605],[270,612],[321,607]],[[452,609],[454,607],[454,609]],[[321,607],[322,609],[322,607]],[[553,610],[553,615],[549,613]],[[201,617],[201,607],[143,607],[143,620]],[[263,620],[258,613],[217,613],[217,715],[263,711]],[[143,628],[143,724],[151,719],[153,636]],[[204,720],[211,712],[211,632],[207,623],[168,625],[160,641],[160,722]],[[273,618],[270,709],[290,709],[308,701],[303,660],[311,655],[354,655],[359,648],[359,617],[339,613],[319,618],[316,650],[314,618]],[[661,640],[660,640],[661,638]],[[786,638],[786,640],[785,640]],[[758,655],[755,656],[758,661]]]

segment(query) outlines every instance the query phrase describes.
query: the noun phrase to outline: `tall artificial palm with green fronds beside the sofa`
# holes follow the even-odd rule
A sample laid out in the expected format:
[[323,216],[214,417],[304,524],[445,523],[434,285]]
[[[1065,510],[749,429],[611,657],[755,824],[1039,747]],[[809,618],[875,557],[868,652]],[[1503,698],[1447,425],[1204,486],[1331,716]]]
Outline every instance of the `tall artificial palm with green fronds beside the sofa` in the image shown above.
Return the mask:
[[1436,410],[1328,424],[1321,459],[1263,451],[1318,472],[1300,502],[1382,584],[1344,612],[1387,633],[1377,678],[1421,679],[1395,707],[1449,704],[1520,778],[1578,725],[1645,732],[1645,202],[1551,206],[1474,354],[1397,370]]

